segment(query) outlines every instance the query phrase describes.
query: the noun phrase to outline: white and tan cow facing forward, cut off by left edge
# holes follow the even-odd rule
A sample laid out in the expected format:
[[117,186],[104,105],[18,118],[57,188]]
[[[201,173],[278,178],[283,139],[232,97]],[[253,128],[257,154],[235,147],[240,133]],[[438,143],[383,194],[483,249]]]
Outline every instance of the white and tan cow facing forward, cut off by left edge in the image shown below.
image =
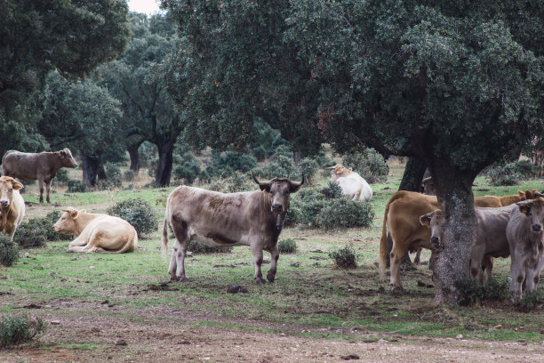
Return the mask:
[[25,217],[25,201],[19,192],[21,188],[23,185],[11,176],[0,177],[0,231],[12,240]]

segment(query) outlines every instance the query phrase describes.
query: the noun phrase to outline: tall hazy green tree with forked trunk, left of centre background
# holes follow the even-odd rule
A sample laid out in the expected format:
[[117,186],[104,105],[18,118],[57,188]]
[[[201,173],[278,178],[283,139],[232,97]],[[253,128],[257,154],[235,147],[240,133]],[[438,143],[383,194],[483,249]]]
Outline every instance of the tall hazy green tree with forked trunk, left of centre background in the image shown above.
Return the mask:
[[138,173],[138,149],[144,141],[156,144],[159,164],[156,186],[170,184],[173,145],[181,133],[179,113],[157,75],[158,67],[172,52],[175,25],[165,15],[148,18],[131,14],[132,43],[116,61],[100,69],[102,84],[107,86],[123,109],[121,129],[131,157],[131,169]]

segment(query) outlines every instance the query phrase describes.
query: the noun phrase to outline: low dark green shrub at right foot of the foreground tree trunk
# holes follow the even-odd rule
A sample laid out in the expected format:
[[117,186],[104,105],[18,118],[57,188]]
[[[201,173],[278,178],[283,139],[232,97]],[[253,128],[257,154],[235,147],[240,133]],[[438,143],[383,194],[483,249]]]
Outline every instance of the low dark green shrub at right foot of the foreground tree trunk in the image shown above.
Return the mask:
[[502,302],[508,300],[510,293],[508,291],[508,281],[492,278],[482,285],[479,281],[472,278],[461,278],[455,283],[457,287],[457,303],[460,306],[470,306],[476,302],[495,301]]

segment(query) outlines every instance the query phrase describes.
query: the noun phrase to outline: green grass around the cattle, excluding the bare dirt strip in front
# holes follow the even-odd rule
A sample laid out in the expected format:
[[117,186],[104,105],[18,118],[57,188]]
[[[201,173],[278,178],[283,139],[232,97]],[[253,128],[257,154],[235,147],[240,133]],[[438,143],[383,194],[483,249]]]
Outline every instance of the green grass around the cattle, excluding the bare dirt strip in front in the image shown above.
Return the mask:
[[[162,285],[168,282],[168,262],[160,255],[158,228],[163,220],[164,202],[173,188],[53,194],[52,200],[60,207],[76,206],[90,212],[104,212],[108,206],[128,198],[144,198],[154,206],[159,225],[155,233],[140,240],[140,248],[132,254],[67,254],[68,237],[41,249],[24,251],[28,258],[20,259],[11,268],[0,267],[0,292],[8,293],[0,300],[0,311],[47,314],[54,308],[74,317],[100,313],[108,314],[110,319],[151,319],[151,324],[162,319],[179,319],[168,317],[167,312],[183,311],[196,317],[191,324],[262,333],[285,332],[308,338],[372,341],[377,336],[387,338],[392,334],[429,337],[461,334],[492,341],[542,342],[543,311],[521,313],[510,303],[452,310],[432,306],[434,289],[416,285],[418,279],[431,283],[427,266],[402,272],[406,288],[402,294],[391,292],[379,280],[375,262],[383,211],[402,175],[395,168],[392,173],[387,184],[372,185],[371,203],[376,217],[371,228],[328,232],[285,229],[281,238],[294,238],[298,251],[280,255],[276,282],[264,286],[253,283],[252,254],[244,246],[235,247],[227,254],[194,254],[186,260],[188,282]],[[514,187],[492,187],[481,178],[477,182],[476,196],[544,189],[542,181],[525,181]],[[320,180],[319,184],[325,185],[326,180]],[[36,195],[24,198],[37,202]],[[31,206],[27,218],[45,214],[52,208]],[[356,250],[359,267],[348,271],[333,269],[327,254],[348,244],[353,244]],[[428,256],[423,254],[423,261]],[[268,254],[265,258],[269,259]],[[299,267],[291,266],[295,262]],[[235,267],[228,267],[231,265]],[[263,264],[265,274],[268,268],[269,264]],[[509,259],[496,259],[494,274],[506,278]],[[228,294],[227,287],[234,284],[245,286],[248,294]],[[161,286],[166,288],[160,290]],[[39,304],[42,309],[25,308],[31,303]],[[164,316],[158,313],[155,318],[146,318],[147,311],[164,311]],[[203,314],[205,321],[197,319]],[[499,325],[500,328],[494,328]],[[354,327],[366,333],[344,334]],[[96,347],[73,344],[67,348]]]

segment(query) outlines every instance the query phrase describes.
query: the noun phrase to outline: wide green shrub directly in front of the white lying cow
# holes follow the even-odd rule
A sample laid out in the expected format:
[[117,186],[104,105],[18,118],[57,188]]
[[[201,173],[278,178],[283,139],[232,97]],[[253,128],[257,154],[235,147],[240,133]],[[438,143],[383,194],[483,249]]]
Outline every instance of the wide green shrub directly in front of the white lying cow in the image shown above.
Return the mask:
[[334,198],[327,200],[321,212],[317,214],[316,224],[325,230],[339,227],[369,227],[373,218],[374,212],[370,203]]

